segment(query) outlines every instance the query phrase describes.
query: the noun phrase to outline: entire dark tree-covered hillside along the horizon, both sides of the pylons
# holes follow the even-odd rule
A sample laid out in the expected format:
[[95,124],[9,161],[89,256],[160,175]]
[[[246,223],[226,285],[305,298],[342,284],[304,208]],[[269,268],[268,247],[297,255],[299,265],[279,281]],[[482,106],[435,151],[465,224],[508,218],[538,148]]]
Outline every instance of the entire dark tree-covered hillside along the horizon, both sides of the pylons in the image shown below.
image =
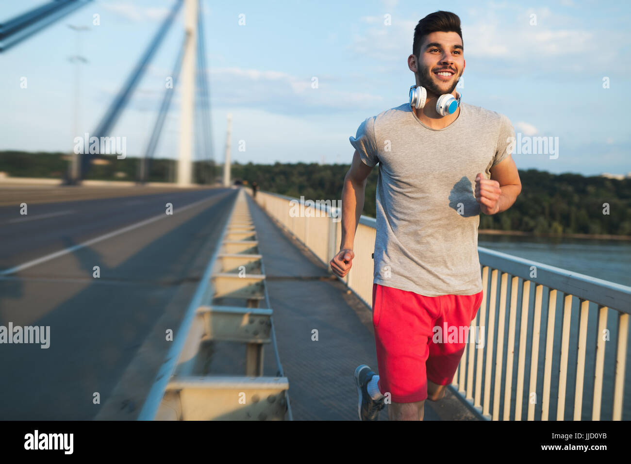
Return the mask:
[[[0,152],[0,172],[11,177],[62,178],[68,172],[64,153]],[[93,164],[88,179],[134,181],[138,178],[138,158],[117,160],[104,155]],[[341,199],[344,176],[349,165],[319,164],[232,164],[232,178],[248,184],[256,181],[262,190],[307,199]],[[175,160],[151,161],[150,181],[174,179]],[[216,166],[215,177],[221,177]],[[375,217],[377,169],[366,186],[363,214]],[[196,162],[196,182],[213,178],[213,166]],[[631,179],[608,179],[580,174],[550,174],[535,169],[520,170],[522,192],[515,205],[498,215],[481,215],[480,229],[518,230],[534,234],[631,235]],[[603,214],[609,204],[609,215]]]

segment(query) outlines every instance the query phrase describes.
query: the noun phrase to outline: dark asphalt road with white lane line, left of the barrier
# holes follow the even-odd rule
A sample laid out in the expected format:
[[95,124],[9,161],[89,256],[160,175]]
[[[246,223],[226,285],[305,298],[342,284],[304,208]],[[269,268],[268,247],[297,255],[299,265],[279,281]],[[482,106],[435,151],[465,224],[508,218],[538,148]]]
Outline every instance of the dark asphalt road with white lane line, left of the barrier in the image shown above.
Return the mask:
[[[50,326],[47,349],[0,344],[0,419],[90,420],[104,404],[122,411],[110,419],[135,418],[170,346],[165,328],[177,334],[236,193],[29,203],[27,216],[19,201],[0,208],[0,325]],[[71,252],[6,272],[64,249]],[[130,373],[150,335],[150,362]],[[123,377],[133,391],[121,391]],[[134,399],[112,405],[114,391]]]

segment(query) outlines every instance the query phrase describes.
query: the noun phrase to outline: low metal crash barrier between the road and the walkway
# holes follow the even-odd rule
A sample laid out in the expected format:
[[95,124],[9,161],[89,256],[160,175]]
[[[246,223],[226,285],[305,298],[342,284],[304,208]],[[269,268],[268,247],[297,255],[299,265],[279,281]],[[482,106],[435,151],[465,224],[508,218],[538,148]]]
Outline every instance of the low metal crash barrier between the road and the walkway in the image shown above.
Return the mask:
[[[292,420],[272,314],[256,230],[239,189],[220,244],[138,419]],[[211,372],[215,342],[245,345],[243,376]],[[274,377],[263,375],[263,347],[269,343]]]

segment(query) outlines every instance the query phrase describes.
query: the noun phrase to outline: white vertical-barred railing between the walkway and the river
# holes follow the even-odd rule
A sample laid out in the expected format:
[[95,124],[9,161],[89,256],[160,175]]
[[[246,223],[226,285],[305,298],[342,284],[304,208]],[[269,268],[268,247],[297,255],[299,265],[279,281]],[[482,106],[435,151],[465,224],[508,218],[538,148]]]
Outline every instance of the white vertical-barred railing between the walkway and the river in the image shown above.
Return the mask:
[[[329,267],[341,237],[337,208],[305,201],[295,215],[299,199],[258,191],[256,201]],[[341,279],[369,307],[375,228],[360,218],[353,267]],[[483,247],[478,254],[484,297],[471,325],[484,330],[483,346],[467,343],[454,393],[481,419],[631,419],[623,410],[631,287]]]

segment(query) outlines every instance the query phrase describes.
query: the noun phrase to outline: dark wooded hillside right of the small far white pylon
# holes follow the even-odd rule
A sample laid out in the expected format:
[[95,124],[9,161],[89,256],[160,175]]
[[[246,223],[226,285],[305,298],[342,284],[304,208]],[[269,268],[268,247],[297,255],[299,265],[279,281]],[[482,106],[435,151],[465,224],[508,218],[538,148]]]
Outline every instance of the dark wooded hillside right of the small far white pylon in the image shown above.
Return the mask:
[[[233,164],[232,177],[261,190],[299,198],[340,199],[349,165]],[[363,214],[375,217],[377,169],[366,186]],[[522,192],[515,204],[498,215],[481,215],[480,229],[520,230],[535,234],[631,235],[631,179],[550,174],[520,170]],[[603,203],[609,215],[603,215]]]

